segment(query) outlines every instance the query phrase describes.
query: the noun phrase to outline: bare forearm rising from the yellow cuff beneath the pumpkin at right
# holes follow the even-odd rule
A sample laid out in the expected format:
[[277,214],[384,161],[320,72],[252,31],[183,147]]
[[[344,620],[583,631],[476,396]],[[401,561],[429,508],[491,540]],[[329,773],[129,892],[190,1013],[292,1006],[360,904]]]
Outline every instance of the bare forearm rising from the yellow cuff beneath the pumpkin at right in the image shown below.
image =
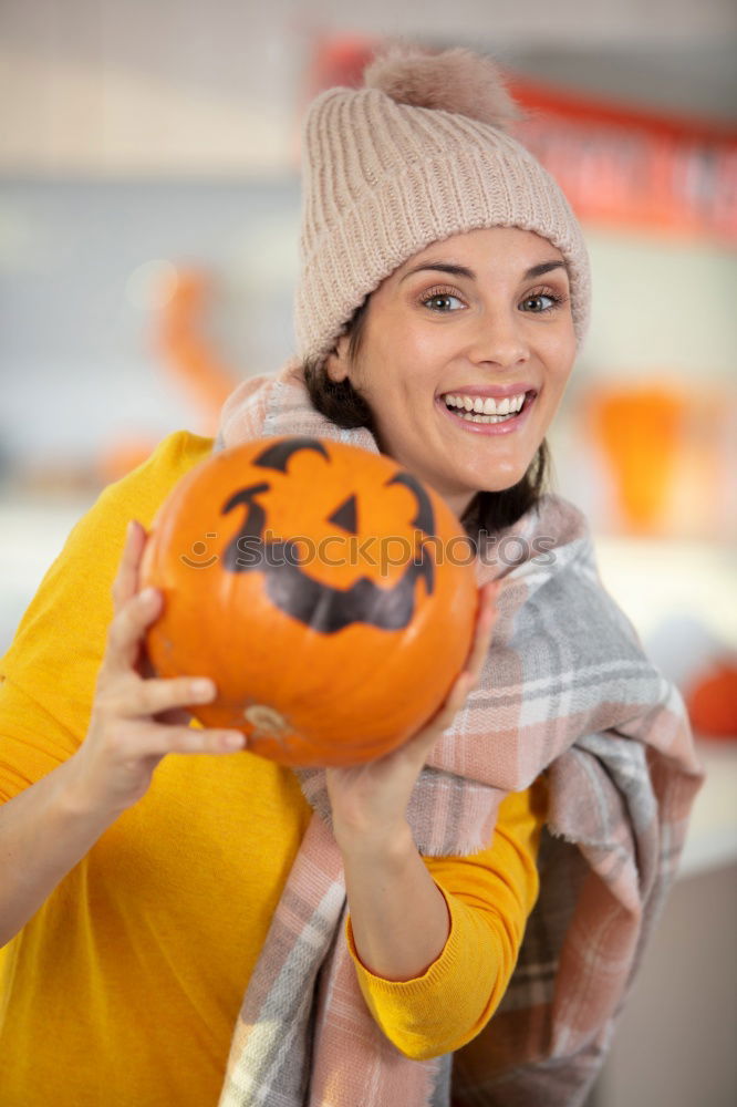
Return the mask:
[[443,952],[450,931],[445,898],[427,871],[409,827],[388,842],[341,839],[355,949],[385,980],[422,975]]

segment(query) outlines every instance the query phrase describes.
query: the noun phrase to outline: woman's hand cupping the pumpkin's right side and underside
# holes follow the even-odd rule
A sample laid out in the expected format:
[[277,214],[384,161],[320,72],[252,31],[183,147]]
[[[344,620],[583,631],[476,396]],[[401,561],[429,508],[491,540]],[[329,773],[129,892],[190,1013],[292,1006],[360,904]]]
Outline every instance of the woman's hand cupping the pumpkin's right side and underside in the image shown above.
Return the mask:
[[496,621],[499,581],[479,589],[479,607],[470,651],[443,706],[422,730],[384,757],[364,765],[326,769],[333,831],[339,846],[382,848],[406,829],[413,788],[430,749],[450,726],[478,681]]

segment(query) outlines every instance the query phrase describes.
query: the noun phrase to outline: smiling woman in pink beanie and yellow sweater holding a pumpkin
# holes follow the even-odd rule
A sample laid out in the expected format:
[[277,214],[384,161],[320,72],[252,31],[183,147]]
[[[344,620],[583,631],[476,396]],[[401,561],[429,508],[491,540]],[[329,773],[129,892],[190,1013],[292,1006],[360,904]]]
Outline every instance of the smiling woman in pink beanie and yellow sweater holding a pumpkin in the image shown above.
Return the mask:
[[479,559],[466,669],[390,756],[176,758],[243,746],[188,725],[211,682],[142,656],[145,527],[212,443],[173,435],[103,494],[3,662],[3,1104],[440,1104],[455,1051],[455,1101],[578,1104],[672,876],[682,705],[541,495],[580,229],[491,62],[390,54],[366,83],[307,121],[300,358],[233,393],[215,448],[380,448],[520,563]]

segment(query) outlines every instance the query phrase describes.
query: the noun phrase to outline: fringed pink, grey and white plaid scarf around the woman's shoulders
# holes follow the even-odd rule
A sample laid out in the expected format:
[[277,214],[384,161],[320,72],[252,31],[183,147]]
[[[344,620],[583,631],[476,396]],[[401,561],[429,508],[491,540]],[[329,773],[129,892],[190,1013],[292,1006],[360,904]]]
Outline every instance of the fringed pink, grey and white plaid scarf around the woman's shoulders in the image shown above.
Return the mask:
[[[297,363],[245,381],[216,449],[287,434],[376,452],[310,402]],[[345,941],[324,773],[235,1028],[220,1107],[574,1107],[601,1066],[675,875],[702,773],[683,702],[603,589],[581,514],[544,496],[509,531],[479,684],[435,746],[408,820],[421,853],[488,846],[500,800],[542,773],[540,894],[488,1026],[455,1055],[403,1056],[361,994]],[[536,557],[536,539],[549,554]],[[498,568],[479,560],[479,583]]]

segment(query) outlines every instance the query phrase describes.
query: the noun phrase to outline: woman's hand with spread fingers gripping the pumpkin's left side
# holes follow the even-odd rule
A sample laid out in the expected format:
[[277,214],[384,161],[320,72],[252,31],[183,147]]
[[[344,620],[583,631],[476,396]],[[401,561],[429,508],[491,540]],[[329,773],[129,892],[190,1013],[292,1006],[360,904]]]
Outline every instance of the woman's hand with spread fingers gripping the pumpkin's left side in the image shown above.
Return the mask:
[[87,810],[111,816],[145,795],[154,769],[167,754],[233,753],[246,744],[240,731],[187,725],[187,705],[215,699],[211,680],[152,675],[144,635],[162,612],[163,597],[156,589],[138,591],[145,544],[144,528],[132,521],[113,584],[115,613],[90,727],[72,758],[77,801]]

